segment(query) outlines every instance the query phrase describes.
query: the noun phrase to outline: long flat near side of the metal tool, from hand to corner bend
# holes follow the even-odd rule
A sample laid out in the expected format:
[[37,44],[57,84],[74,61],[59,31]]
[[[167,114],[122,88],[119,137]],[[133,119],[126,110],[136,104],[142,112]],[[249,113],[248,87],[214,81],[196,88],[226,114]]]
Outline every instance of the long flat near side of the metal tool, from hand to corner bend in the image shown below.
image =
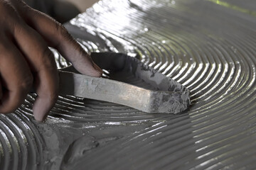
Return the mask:
[[151,91],[111,79],[58,71],[60,94],[122,104],[149,112]]

